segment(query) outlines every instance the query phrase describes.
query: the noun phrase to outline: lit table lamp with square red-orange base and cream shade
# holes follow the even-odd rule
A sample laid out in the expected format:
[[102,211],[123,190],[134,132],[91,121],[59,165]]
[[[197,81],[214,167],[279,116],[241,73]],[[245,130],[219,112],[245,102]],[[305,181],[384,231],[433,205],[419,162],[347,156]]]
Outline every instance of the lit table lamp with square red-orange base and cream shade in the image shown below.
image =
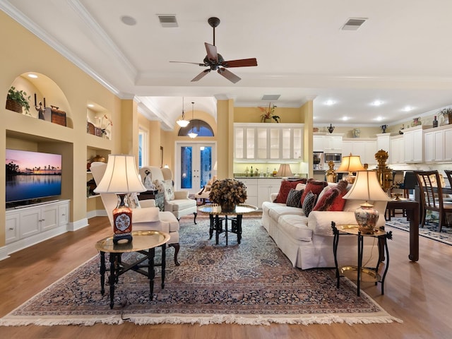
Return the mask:
[[108,155],[107,168],[102,180],[94,190],[96,193],[114,193],[119,196],[113,210],[113,242],[132,241],[132,209],[124,202],[128,193],[146,191],[138,177],[133,155]]

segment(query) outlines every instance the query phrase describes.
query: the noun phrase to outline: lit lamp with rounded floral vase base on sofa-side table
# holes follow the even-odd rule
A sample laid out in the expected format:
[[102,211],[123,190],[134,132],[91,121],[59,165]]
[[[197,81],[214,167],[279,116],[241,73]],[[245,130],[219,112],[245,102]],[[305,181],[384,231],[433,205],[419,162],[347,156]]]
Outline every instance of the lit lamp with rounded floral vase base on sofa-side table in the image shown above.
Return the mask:
[[369,201],[389,201],[388,195],[381,189],[375,171],[359,171],[352,188],[344,199],[365,201],[355,210],[358,230],[362,234],[374,234],[379,211]]

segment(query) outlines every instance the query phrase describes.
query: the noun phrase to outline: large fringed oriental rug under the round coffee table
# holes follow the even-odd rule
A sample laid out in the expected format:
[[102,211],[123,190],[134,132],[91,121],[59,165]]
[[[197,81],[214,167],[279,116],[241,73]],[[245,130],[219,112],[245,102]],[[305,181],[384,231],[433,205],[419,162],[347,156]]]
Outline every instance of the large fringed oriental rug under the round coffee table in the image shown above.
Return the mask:
[[199,218],[198,225],[191,217],[180,223],[181,265],[174,265],[174,249],[167,249],[165,288],[157,268],[153,300],[148,279],[129,271],[119,277],[110,309],[109,287],[100,294],[95,256],[4,316],[0,325],[401,322],[364,292],[358,297],[347,278],[337,289],[335,270],[293,268],[260,218],[244,218],[241,244],[229,234],[228,246],[224,233],[218,245],[215,237],[209,239],[207,218]]

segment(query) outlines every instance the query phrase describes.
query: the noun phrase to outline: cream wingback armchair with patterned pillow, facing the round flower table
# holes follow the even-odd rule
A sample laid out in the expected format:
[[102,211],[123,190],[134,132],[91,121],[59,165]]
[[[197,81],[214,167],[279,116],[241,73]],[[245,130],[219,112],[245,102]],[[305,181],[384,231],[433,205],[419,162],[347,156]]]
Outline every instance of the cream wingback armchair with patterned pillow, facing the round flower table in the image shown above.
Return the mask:
[[171,169],[143,166],[140,175],[147,189],[150,189],[148,185],[153,185],[154,189],[165,194],[165,211],[174,214],[177,220],[193,213],[196,224],[196,200],[189,198],[189,191],[174,191]]

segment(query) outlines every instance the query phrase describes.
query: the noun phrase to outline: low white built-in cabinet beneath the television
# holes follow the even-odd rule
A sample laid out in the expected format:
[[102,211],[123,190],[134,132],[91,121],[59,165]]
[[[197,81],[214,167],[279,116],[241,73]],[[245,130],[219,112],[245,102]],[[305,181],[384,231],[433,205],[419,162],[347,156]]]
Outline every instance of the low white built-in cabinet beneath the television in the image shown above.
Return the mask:
[[45,234],[58,227],[66,232],[68,223],[69,200],[6,210],[6,244],[35,237],[35,241],[24,242],[25,247],[32,242],[47,239]]

